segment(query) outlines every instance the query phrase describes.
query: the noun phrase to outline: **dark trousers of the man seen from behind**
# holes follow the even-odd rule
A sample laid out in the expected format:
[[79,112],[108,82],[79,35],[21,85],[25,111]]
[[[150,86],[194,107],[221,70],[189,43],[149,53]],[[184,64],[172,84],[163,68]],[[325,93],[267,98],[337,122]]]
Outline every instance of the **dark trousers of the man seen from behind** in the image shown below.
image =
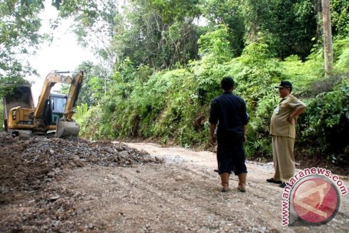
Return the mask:
[[[220,137],[222,138],[222,137]],[[229,137],[217,141],[217,162],[219,174],[247,173],[245,151],[242,137]]]

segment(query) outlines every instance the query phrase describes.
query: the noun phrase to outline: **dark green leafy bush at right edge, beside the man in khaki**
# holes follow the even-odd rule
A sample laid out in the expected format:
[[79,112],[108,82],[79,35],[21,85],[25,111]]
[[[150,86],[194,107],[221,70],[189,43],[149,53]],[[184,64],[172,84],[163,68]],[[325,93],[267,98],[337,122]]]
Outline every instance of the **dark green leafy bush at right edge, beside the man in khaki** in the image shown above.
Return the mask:
[[[349,80],[307,101],[299,119],[299,142],[309,154],[342,153],[349,145]],[[311,145],[311,146],[309,146]]]

